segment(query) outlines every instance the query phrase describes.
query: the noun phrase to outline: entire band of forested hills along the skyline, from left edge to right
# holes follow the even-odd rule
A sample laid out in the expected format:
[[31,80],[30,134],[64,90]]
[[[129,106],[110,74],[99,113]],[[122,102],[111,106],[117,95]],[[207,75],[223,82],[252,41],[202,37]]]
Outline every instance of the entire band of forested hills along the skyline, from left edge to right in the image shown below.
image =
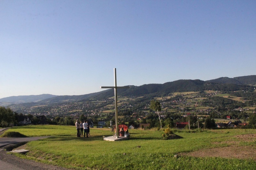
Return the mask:
[[[253,86],[245,84],[256,84],[256,76],[243,76],[243,77],[221,77],[214,80],[176,80],[166,82],[163,84],[144,84],[142,86],[129,86],[128,89],[117,89],[118,96],[126,97],[159,97],[165,96],[174,92],[189,92],[189,91],[239,91],[254,89]],[[29,103],[29,105],[52,104],[62,102],[76,102],[76,101],[96,101],[104,100],[114,96],[114,90],[108,89],[101,92],[90,93],[85,95],[73,96],[55,96],[49,94],[30,95],[30,96],[12,96],[0,99],[0,106],[8,106],[18,103]]]

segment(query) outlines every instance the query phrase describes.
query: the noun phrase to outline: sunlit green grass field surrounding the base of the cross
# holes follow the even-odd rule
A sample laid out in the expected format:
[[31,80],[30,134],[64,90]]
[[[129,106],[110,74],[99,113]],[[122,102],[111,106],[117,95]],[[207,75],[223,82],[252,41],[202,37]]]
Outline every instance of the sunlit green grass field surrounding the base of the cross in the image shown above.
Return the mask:
[[[254,129],[175,131],[183,137],[162,140],[162,131],[130,130],[131,138],[126,141],[103,141],[102,136],[111,136],[110,129],[91,128],[89,138],[76,137],[72,126],[23,126],[8,130],[26,136],[53,136],[31,141],[23,146],[30,150],[26,156],[48,164],[72,169],[254,169],[253,159],[226,159],[220,157],[189,157],[174,155],[181,152],[197,151],[205,148],[229,146],[239,134],[256,134]],[[240,145],[255,145],[242,142]],[[235,154],[235,153],[234,153]]]

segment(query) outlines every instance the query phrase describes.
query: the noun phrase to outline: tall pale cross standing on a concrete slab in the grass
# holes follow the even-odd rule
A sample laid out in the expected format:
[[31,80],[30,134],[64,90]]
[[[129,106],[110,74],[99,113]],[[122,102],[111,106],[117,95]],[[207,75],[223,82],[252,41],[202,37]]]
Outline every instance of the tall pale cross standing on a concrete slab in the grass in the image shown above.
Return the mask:
[[129,87],[117,87],[116,86],[116,68],[114,68],[114,86],[101,86],[101,89],[114,89],[115,90],[115,118],[116,118],[116,138],[119,136],[118,132],[118,123],[117,123],[117,88],[118,89],[128,89]]

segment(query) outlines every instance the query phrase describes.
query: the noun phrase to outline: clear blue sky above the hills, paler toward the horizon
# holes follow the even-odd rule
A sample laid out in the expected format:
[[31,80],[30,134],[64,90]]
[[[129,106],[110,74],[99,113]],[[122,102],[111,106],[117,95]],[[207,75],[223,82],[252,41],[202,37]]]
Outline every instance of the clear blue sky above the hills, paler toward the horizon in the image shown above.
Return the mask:
[[0,98],[255,75],[256,1],[1,0]]

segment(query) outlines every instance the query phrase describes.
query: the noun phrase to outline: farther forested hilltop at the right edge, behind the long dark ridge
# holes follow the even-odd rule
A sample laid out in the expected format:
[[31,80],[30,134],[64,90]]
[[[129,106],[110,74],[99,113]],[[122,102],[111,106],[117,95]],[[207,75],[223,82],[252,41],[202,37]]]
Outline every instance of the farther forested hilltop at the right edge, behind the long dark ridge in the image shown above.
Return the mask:
[[220,77],[213,80],[207,80],[207,82],[216,82],[216,83],[228,83],[228,84],[238,84],[238,85],[256,85],[256,75],[251,76],[241,76],[241,77]]

